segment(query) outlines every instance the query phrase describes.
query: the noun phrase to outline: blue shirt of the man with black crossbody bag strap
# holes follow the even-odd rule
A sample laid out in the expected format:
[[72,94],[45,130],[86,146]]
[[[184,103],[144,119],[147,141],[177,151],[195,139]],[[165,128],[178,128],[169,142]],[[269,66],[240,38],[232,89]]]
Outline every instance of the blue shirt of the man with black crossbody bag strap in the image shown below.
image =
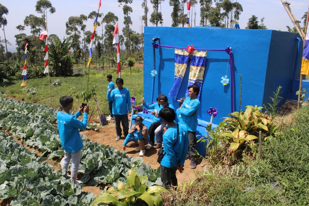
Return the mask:
[[[163,134],[163,142],[163,153],[165,153],[165,155],[160,164],[168,168],[175,167],[177,164],[183,165],[187,155],[189,142],[186,126],[184,124],[179,124],[178,138],[177,125],[169,127]],[[173,146],[174,144],[175,146]]]

